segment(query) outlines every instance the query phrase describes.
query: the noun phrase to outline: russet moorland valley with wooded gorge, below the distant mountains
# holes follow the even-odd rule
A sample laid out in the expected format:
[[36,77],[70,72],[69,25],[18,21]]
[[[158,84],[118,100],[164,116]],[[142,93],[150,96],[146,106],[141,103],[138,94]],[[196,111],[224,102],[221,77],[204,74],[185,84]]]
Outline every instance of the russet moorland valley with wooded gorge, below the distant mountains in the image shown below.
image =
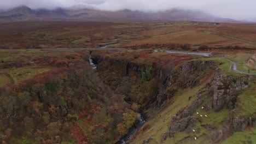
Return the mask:
[[255,27],[2,22],[0,142],[255,143]]

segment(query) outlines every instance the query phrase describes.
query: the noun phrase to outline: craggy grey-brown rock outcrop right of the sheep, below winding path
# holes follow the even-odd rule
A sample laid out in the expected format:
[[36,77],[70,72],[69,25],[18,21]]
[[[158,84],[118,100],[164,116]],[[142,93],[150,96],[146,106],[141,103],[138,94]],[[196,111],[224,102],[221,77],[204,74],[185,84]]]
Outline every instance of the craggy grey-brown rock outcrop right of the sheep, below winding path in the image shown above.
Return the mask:
[[[249,80],[245,77],[225,77],[219,71],[212,80],[208,95],[212,97],[212,108],[214,111],[222,109],[235,109],[237,91],[249,86]],[[247,84],[247,85],[246,85]]]

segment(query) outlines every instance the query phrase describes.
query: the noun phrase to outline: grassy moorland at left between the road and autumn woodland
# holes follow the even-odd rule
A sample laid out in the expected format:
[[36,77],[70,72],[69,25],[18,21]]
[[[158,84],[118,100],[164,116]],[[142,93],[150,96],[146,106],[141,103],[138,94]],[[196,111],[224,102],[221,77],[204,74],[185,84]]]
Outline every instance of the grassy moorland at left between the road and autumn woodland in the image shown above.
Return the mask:
[[[47,66],[47,64],[36,64],[31,59],[40,59],[47,57],[65,58],[69,55],[77,55],[74,50],[65,51],[47,51],[47,50],[0,50],[0,61],[4,63],[29,63],[20,68],[8,68],[0,70],[0,87],[5,86],[11,82],[17,83],[26,79],[30,79],[38,74],[55,69],[55,67]],[[42,60],[39,60],[42,61]],[[3,63],[3,64],[4,64]]]

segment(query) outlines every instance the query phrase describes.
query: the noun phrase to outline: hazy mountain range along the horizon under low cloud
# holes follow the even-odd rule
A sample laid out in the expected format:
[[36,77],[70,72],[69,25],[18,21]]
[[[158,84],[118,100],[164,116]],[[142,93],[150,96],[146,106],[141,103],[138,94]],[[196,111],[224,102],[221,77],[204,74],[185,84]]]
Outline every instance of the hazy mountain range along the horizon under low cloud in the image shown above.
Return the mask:
[[159,12],[97,10],[90,5],[74,5],[70,8],[31,9],[27,6],[0,11],[0,21],[106,21],[106,20],[163,20],[163,21],[210,21],[234,22],[232,19],[214,17],[202,11],[171,9]]

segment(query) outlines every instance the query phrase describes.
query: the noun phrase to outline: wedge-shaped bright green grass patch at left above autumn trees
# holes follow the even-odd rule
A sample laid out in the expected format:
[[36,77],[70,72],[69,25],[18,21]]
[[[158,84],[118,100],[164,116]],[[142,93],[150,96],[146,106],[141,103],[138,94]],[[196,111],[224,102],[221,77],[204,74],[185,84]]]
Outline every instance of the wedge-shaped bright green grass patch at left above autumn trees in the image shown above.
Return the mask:
[[10,71],[9,75],[11,76],[11,79],[13,79],[13,81],[15,83],[17,83],[17,82],[29,79],[38,74],[44,73],[48,70],[50,70],[50,69],[49,68],[39,68],[39,67],[23,67],[23,68],[19,68],[19,69]]

